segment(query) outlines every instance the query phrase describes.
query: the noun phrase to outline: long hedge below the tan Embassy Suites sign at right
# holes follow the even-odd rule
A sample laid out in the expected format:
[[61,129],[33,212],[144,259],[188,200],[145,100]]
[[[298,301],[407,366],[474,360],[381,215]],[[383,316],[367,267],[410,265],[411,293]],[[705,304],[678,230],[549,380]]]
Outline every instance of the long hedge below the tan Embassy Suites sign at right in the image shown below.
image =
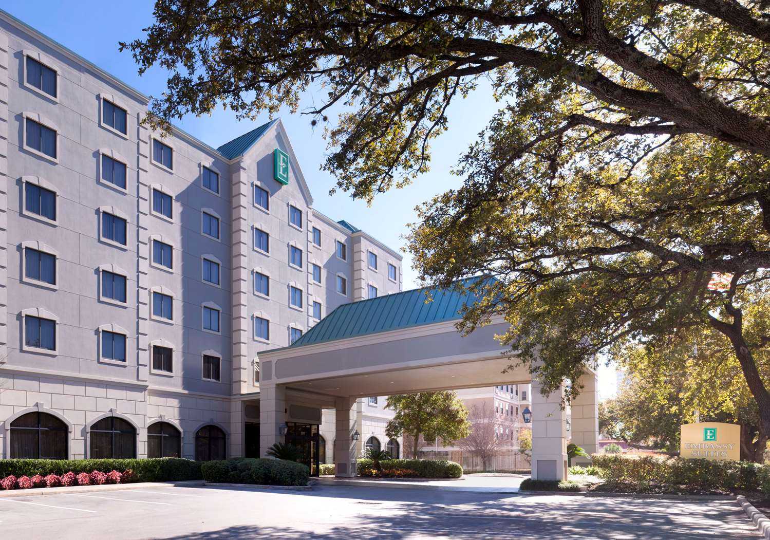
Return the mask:
[[750,461],[604,454],[594,454],[591,459],[601,469],[605,491],[770,493],[770,467]]

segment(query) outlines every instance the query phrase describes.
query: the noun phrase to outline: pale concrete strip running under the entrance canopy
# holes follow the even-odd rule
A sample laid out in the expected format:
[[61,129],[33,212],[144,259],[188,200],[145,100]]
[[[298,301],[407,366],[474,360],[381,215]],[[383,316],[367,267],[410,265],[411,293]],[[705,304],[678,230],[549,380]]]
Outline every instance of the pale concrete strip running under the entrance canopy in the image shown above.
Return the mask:
[[440,489],[441,491],[468,491],[471,493],[518,493],[519,485],[529,478],[525,475],[465,475],[450,480],[391,480],[389,478],[316,478],[320,485],[356,485],[367,488]]

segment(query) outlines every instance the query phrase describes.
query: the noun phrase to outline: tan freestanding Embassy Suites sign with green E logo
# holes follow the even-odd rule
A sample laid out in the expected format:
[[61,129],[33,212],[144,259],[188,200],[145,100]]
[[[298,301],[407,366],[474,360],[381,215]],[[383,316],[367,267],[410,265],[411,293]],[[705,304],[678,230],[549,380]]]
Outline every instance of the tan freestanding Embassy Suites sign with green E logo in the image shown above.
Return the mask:
[[741,426],[721,422],[681,425],[679,455],[689,459],[741,459]]

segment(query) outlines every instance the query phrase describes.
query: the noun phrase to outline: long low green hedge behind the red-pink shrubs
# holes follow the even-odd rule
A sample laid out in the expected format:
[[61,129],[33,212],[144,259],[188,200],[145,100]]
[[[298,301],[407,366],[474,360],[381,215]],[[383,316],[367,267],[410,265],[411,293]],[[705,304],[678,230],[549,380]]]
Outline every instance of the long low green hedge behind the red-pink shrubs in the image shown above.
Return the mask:
[[0,459],[0,478],[6,476],[65,475],[69,471],[118,471],[131,469],[133,481],[159,482],[200,480],[200,462],[182,458],[151,459]]

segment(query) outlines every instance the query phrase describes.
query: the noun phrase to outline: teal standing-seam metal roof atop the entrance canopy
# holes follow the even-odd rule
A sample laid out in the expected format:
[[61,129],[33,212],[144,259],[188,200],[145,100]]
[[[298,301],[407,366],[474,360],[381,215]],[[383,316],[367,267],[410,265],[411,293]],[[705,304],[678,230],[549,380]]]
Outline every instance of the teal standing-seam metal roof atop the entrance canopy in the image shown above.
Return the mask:
[[[464,281],[479,279],[487,278],[470,277]],[[432,301],[426,302],[426,292]],[[326,315],[290,347],[459,320],[460,310],[465,305],[474,304],[476,300],[478,298],[475,294],[458,292],[453,288],[422,288],[343,304]]]

